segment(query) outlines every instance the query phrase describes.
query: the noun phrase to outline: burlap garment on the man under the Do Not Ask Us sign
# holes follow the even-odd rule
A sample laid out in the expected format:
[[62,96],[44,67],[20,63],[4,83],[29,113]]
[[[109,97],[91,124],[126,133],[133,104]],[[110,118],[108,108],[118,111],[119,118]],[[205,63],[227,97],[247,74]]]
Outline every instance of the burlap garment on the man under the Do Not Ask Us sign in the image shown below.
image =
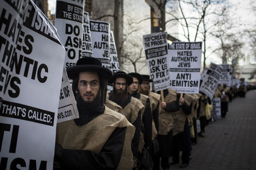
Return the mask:
[[[176,91],[168,89],[169,94],[164,98],[166,103],[170,103],[176,100]],[[166,111],[159,106],[159,134],[167,135],[167,133],[173,129],[173,113]]]

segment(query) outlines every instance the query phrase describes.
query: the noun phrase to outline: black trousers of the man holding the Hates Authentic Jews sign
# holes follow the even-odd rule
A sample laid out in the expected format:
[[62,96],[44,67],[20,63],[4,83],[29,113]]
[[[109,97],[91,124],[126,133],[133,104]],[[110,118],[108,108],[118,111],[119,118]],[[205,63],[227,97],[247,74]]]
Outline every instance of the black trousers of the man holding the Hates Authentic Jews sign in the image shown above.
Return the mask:
[[189,122],[186,120],[184,131],[173,136],[172,161],[179,162],[179,152],[182,150],[182,163],[189,164],[189,152],[191,150]]

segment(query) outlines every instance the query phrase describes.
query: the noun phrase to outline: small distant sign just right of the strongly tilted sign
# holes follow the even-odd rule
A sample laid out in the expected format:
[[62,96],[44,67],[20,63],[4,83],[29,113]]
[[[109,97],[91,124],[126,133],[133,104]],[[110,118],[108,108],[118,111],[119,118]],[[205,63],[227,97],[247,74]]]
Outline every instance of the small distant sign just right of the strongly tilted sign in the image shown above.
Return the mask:
[[218,84],[226,84],[227,87],[231,86],[232,83],[232,68],[228,64],[222,64],[221,66],[221,77]]

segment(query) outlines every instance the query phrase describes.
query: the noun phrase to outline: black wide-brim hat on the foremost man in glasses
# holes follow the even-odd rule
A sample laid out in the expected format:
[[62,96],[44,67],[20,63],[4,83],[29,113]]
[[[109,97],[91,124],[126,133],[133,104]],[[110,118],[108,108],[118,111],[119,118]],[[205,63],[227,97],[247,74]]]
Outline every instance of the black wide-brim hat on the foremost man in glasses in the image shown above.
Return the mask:
[[100,60],[93,57],[82,57],[77,60],[76,66],[67,68],[67,76],[70,79],[75,79],[79,73],[86,71],[96,72],[105,79],[110,79],[113,76],[110,69],[102,67]]

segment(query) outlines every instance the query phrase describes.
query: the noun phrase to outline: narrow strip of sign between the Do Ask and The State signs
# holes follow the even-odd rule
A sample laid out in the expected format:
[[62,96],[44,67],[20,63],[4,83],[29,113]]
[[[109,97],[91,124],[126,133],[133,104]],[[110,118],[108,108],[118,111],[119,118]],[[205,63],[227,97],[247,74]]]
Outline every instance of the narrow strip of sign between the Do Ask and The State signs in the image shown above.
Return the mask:
[[92,38],[90,36],[90,20],[88,12],[84,11],[82,57],[93,57]]

